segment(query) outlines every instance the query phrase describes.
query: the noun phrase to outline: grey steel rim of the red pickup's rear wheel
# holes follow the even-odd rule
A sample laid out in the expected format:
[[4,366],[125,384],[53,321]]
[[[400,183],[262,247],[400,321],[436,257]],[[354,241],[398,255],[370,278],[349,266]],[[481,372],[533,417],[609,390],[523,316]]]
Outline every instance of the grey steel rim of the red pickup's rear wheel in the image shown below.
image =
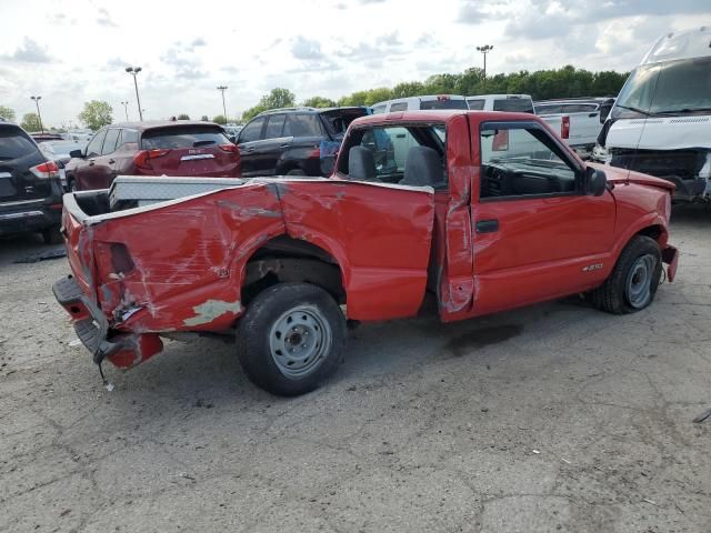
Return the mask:
[[284,312],[269,331],[271,359],[286,378],[304,378],[318,369],[331,346],[331,328],[313,305]]

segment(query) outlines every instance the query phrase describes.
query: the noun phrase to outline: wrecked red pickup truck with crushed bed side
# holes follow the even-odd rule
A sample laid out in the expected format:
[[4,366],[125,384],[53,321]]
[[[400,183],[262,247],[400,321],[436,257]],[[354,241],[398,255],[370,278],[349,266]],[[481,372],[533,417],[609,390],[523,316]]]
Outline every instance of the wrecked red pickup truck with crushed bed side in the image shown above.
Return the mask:
[[575,293],[630,313],[662,263],[670,281],[677,270],[673,185],[587,164],[523,113],[358,119],[330,179],[187,197],[167,193],[180,179],[136,180],[64,197],[73,274],[53,290],[94,362],[130,368],[161,336],[227,334],[248,376],[282,395],[337,369],[347,320],[412,316],[428,293],[444,322]]

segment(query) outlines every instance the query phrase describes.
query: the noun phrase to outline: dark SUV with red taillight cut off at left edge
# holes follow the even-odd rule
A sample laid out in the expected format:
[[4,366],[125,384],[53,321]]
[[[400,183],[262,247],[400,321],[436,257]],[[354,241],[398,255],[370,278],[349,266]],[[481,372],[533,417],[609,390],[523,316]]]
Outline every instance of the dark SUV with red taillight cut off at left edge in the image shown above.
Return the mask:
[[22,128],[0,119],[0,235],[38,231],[59,243],[61,214],[59,167]]

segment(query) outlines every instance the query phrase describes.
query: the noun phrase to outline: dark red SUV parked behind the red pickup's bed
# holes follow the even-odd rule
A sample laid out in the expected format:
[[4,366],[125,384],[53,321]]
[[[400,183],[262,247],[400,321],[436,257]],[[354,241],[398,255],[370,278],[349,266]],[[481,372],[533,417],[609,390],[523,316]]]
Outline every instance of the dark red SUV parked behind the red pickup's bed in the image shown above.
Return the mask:
[[99,130],[66,164],[70,190],[106,189],[119,174],[237,178],[240,153],[209,122],[126,122]]

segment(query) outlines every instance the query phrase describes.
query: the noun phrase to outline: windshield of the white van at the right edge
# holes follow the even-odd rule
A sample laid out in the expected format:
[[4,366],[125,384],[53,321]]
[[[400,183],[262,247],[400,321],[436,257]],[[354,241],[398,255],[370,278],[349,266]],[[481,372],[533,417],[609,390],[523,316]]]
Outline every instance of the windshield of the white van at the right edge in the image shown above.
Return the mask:
[[620,91],[613,118],[711,110],[711,57],[635,69]]

